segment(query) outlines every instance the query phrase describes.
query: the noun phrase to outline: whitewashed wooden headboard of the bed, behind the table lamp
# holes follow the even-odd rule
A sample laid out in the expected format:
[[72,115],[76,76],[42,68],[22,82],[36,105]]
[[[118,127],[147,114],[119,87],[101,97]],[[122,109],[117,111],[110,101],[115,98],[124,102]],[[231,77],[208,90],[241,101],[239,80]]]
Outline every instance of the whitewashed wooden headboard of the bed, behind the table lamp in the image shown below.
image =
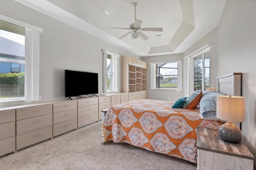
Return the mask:
[[[230,96],[242,95],[242,73],[231,73],[217,77],[217,90],[219,93]],[[242,130],[242,123],[235,123]]]

